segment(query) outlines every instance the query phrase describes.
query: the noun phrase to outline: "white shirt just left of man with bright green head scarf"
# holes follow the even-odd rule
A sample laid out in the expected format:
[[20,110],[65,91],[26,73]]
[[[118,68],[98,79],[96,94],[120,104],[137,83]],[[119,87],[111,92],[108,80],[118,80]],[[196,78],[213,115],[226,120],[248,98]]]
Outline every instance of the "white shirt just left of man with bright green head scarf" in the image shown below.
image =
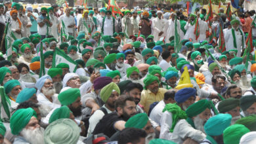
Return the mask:
[[154,120],[154,122],[158,123],[160,126],[161,116],[163,115],[162,111],[165,108],[165,102],[161,100],[155,107],[152,109],[150,113],[150,118]]

